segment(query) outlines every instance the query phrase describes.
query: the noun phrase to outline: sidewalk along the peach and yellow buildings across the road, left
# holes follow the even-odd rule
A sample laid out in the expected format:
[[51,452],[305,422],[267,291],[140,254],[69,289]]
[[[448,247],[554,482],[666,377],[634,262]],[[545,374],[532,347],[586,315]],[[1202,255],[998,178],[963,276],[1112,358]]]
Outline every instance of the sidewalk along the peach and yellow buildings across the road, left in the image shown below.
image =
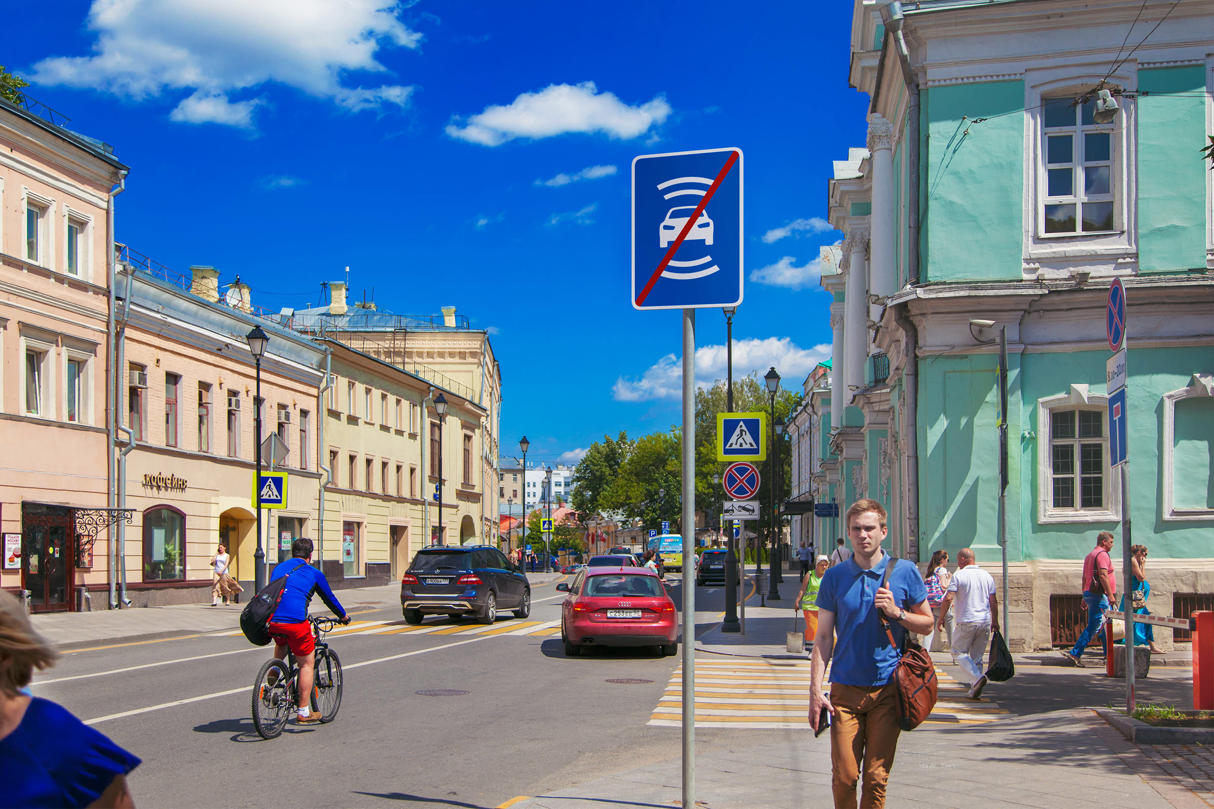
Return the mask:
[[[545,585],[561,579],[561,574],[527,574],[533,585]],[[242,598],[251,593],[245,591]],[[351,587],[337,592],[337,600],[350,613],[399,605],[401,585],[392,582],[379,587]],[[91,613],[41,613],[32,615],[34,628],[59,651],[115,643],[134,643],[158,638],[178,638],[208,632],[240,628],[244,603],[231,606],[210,604],[170,604],[123,610]]]

